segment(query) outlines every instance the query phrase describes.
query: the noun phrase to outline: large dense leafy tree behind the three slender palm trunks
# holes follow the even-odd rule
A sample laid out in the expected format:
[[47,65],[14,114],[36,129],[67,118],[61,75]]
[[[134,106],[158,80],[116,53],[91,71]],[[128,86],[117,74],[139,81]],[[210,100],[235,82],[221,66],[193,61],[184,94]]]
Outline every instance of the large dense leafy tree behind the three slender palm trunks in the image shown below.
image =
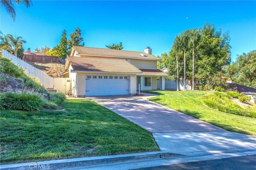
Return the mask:
[[[224,76],[224,67],[230,63],[230,38],[228,32],[221,33],[221,30],[215,31],[214,25],[206,23],[203,28],[198,28],[199,36],[201,37],[198,43],[194,44],[194,53],[196,52],[196,58],[194,62],[194,76],[195,82],[205,86],[206,84],[212,84],[209,86],[214,88],[214,86],[219,86],[219,83],[215,83],[217,79],[218,82],[222,82],[221,77]],[[184,31],[188,33],[189,31]],[[182,36],[184,33],[178,35]],[[187,80],[192,80],[193,78],[193,45],[188,39],[190,45],[186,49],[186,54],[184,55],[184,46],[181,45],[180,49],[176,49],[175,45],[169,53],[169,59],[167,65],[169,67],[169,75],[177,78],[184,78],[186,76]],[[175,42],[175,41],[174,41]],[[182,42],[182,41],[181,41]],[[182,52],[183,51],[183,52]],[[183,55],[183,57],[182,57]],[[177,56],[178,56],[178,76],[177,76]],[[184,58],[186,57],[186,75],[184,72]]]

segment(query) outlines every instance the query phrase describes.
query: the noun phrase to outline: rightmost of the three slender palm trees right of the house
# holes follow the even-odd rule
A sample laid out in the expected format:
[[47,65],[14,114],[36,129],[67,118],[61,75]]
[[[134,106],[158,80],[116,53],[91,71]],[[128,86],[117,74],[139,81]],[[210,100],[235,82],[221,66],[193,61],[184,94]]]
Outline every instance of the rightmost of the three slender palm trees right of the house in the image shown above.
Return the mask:
[[192,56],[193,56],[193,68],[192,68],[192,90],[195,90],[195,45],[200,39],[200,34],[198,29],[188,30],[189,35],[189,46],[192,46]]

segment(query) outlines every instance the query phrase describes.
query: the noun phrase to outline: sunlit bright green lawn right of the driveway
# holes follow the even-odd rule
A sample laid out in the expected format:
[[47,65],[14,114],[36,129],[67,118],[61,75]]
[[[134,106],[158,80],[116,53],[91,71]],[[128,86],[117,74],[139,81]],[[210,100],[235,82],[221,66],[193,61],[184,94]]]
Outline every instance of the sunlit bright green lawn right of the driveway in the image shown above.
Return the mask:
[[227,131],[256,136],[255,118],[217,111],[203,104],[200,97],[211,92],[188,90],[180,92],[151,91],[149,93],[160,95],[149,99],[153,102],[196,117]]

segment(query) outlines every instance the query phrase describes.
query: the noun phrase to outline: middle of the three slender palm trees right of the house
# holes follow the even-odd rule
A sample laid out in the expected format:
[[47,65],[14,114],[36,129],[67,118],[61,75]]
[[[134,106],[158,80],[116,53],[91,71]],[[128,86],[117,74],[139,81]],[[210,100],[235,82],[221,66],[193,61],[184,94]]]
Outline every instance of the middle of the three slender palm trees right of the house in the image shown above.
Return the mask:
[[186,61],[186,50],[188,49],[188,31],[185,31],[184,33],[181,34],[180,37],[180,43],[182,45],[182,49],[184,51],[184,87],[183,90],[187,90],[186,89],[186,71],[187,71],[187,61]]

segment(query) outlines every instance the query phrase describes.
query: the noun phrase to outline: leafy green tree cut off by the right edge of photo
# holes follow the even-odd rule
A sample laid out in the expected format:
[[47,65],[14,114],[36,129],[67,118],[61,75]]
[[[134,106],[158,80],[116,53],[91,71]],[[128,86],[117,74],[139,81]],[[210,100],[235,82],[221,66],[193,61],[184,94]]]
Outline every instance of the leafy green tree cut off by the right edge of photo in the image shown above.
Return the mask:
[[237,84],[256,88],[256,50],[237,56],[227,66],[227,76]]

